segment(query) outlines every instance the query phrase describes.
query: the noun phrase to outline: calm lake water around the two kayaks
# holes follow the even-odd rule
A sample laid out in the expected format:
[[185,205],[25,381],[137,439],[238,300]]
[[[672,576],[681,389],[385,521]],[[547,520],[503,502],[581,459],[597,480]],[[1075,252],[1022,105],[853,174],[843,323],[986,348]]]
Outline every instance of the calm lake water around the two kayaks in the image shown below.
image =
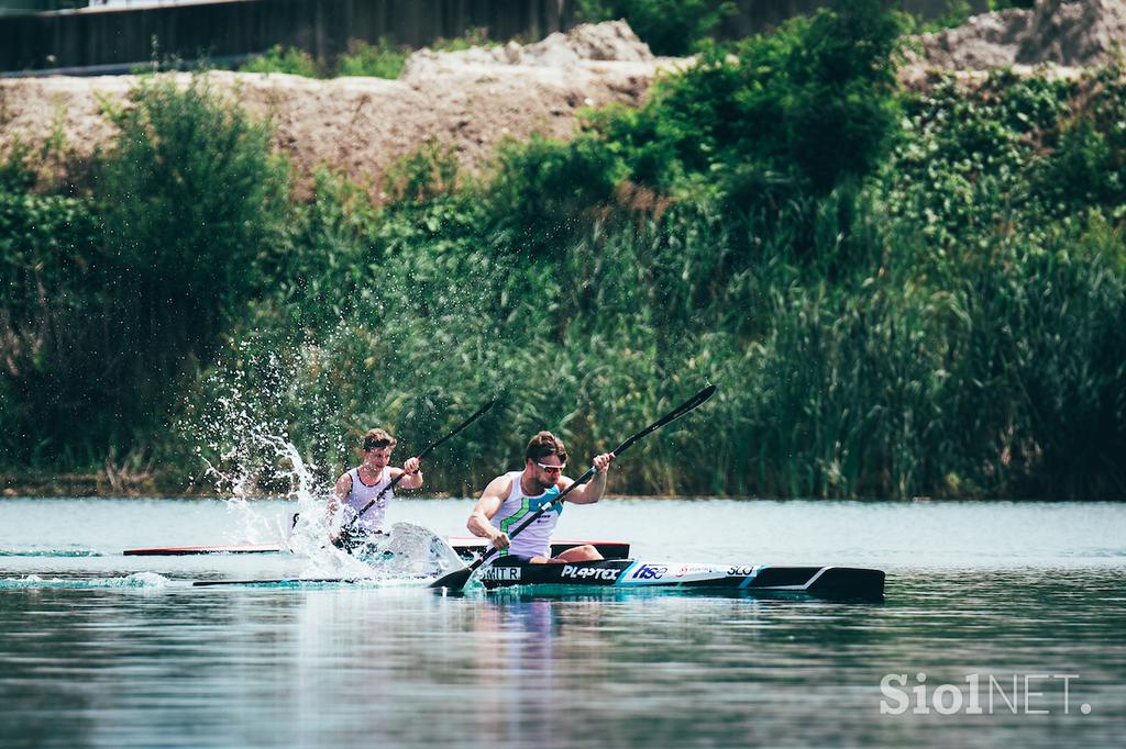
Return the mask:
[[[391,515],[463,534],[470,507]],[[606,500],[561,522],[654,561],[878,567],[882,604],[191,588],[324,561],[122,556],[272,541],[292,509],[0,499],[0,747],[1126,743],[1123,504]]]

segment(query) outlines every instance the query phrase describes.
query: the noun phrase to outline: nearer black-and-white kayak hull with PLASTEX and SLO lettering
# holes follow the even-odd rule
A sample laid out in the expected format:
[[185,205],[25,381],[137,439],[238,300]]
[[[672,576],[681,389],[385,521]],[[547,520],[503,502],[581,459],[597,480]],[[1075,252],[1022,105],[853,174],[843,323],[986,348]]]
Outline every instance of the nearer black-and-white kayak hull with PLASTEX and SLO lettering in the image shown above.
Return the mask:
[[799,594],[820,598],[879,599],[884,572],[855,567],[682,565],[633,559],[528,565],[499,559],[480,572],[486,588],[507,586],[600,586],[615,588],[716,588],[753,594]]

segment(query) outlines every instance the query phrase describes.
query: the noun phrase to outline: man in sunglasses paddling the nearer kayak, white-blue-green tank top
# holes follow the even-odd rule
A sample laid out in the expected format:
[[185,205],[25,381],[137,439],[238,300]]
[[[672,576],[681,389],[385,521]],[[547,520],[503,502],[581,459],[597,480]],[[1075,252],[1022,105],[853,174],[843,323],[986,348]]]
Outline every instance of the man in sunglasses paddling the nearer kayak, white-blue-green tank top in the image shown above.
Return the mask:
[[[551,558],[552,531],[563,512],[563,503],[557,503],[539,516],[515,539],[509,539],[509,530],[517,526],[530,513],[551,503],[574,481],[563,476],[566,468],[566,448],[563,441],[551,432],[540,432],[531,437],[524,453],[524,470],[498,476],[477,499],[466,526],[474,535],[489,539],[500,549],[500,557],[522,559],[533,563],[547,561],[586,561],[601,559],[602,556],[590,544],[568,549],[558,557]],[[577,505],[592,505],[606,491],[606,473],[613,452],[596,455],[591,461],[596,473],[583,486],[575,487],[565,500]]]

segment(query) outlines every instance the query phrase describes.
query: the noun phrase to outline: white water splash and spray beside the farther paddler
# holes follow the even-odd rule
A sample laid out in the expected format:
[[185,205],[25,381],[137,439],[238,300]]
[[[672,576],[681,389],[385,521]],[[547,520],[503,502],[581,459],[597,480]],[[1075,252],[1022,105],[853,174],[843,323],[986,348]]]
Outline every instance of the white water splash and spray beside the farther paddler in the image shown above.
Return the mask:
[[[227,496],[232,532],[241,542],[278,543],[302,557],[301,578],[417,580],[461,563],[445,541],[412,524],[396,524],[391,538],[367,553],[354,556],[333,547],[329,540],[342,520],[342,513],[328,509],[333,476],[318,470],[289,432],[301,421],[295,410],[303,416],[327,413],[324,403],[307,403],[320,396],[302,386],[309,370],[323,369],[321,353],[307,344],[289,351],[252,342],[240,345],[234,362],[209,378],[205,390],[212,399],[203,413],[194,414],[189,433],[199,445],[206,478]],[[321,455],[342,457],[339,439],[325,436],[338,432],[338,425],[328,416],[313,421],[296,426],[304,435],[301,444],[313,445]],[[256,502],[263,491],[287,500],[280,516]]]

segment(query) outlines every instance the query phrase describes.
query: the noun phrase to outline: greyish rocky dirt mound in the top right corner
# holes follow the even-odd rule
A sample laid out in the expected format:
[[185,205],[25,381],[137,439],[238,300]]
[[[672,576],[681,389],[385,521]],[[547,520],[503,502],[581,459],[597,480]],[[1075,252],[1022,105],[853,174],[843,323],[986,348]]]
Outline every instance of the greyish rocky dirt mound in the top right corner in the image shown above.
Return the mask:
[[951,70],[1109,62],[1126,45],[1124,0],[1037,0],[1031,10],[972,17],[958,28],[919,37],[917,63]]

